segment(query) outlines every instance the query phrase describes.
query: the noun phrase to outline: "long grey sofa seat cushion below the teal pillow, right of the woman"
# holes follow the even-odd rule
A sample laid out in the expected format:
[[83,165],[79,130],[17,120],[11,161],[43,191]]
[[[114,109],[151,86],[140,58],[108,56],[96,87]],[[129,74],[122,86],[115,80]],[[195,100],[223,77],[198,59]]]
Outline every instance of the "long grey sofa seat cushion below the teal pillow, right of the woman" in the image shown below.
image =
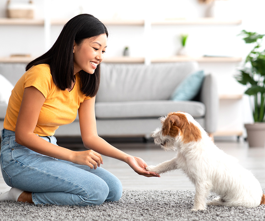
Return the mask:
[[195,118],[205,115],[205,105],[198,101],[125,101],[96,102],[96,118],[158,118],[169,112],[187,112]]

